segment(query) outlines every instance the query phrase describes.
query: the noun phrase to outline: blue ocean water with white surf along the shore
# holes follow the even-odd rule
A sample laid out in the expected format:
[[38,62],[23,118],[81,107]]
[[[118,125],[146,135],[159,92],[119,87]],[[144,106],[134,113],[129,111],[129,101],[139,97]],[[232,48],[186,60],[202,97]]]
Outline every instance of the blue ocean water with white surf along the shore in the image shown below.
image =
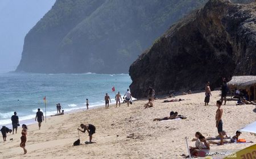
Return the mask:
[[[114,103],[114,92],[125,94],[131,83],[129,74],[0,74],[0,125],[10,124],[16,111],[19,120],[34,119],[38,108],[45,113],[43,98],[46,96],[47,116],[56,114],[56,103],[64,112],[104,105],[105,93]],[[22,123],[22,122],[20,122]]]

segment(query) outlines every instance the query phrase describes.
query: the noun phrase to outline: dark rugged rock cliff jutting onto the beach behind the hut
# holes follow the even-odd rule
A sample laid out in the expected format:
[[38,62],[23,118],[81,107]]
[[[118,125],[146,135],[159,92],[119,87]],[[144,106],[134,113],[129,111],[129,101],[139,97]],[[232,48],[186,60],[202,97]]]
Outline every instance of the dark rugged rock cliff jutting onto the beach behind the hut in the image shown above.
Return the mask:
[[221,77],[256,75],[256,4],[210,0],[172,26],[130,66],[135,98],[169,90],[198,90]]

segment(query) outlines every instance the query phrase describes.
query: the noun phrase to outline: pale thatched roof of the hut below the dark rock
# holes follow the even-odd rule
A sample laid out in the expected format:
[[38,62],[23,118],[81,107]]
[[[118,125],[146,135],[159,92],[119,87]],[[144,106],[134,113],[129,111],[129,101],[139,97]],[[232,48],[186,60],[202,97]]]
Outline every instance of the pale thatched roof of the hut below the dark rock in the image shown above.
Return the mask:
[[256,84],[256,76],[233,76],[228,82],[229,87],[239,86],[241,89]]

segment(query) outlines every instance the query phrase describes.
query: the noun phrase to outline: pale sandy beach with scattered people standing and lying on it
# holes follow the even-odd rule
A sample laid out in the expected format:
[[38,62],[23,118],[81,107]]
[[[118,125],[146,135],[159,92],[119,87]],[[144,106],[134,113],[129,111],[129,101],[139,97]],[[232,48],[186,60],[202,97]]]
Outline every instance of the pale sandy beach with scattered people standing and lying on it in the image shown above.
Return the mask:
[[[209,106],[204,106],[204,93],[196,93],[175,97],[185,99],[181,102],[162,103],[166,99],[158,99],[154,107],[147,109],[143,107],[147,101],[140,100],[130,107],[126,103],[117,108],[111,104],[108,110],[104,106],[50,117],[40,130],[37,124],[28,125],[25,155],[19,147],[20,127],[17,134],[7,135],[6,142],[1,136],[0,158],[182,158],[181,154],[188,154],[186,136],[189,145],[194,146],[191,140],[196,131],[205,137],[217,135],[215,114],[219,94],[220,91],[212,92]],[[236,101],[228,101],[222,108],[224,130],[230,136],[256,120],[254,105],[236,106]],[[168,116],[170,111],[177,111],[187,119],[153,122],[154,118]],[[89,140],[86,132],[80,133],[82,145],[73,146],[81,123],[96,126],[95,144],[84,144]],[[132,133],[134,136],[128,138]],[[256,137],[248,132],[242,132],[241,138],[254,143],[211,145],[210,152],[235,152],[256,143]]]

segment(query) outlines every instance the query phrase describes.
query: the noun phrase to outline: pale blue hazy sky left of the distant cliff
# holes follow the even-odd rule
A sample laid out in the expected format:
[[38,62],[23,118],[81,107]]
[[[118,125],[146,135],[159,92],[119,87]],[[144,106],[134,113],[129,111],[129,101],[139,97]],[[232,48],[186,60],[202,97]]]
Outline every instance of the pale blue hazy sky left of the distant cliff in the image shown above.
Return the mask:
[[15,70],[24,37],[55,0],[0,0],[0,72]]

